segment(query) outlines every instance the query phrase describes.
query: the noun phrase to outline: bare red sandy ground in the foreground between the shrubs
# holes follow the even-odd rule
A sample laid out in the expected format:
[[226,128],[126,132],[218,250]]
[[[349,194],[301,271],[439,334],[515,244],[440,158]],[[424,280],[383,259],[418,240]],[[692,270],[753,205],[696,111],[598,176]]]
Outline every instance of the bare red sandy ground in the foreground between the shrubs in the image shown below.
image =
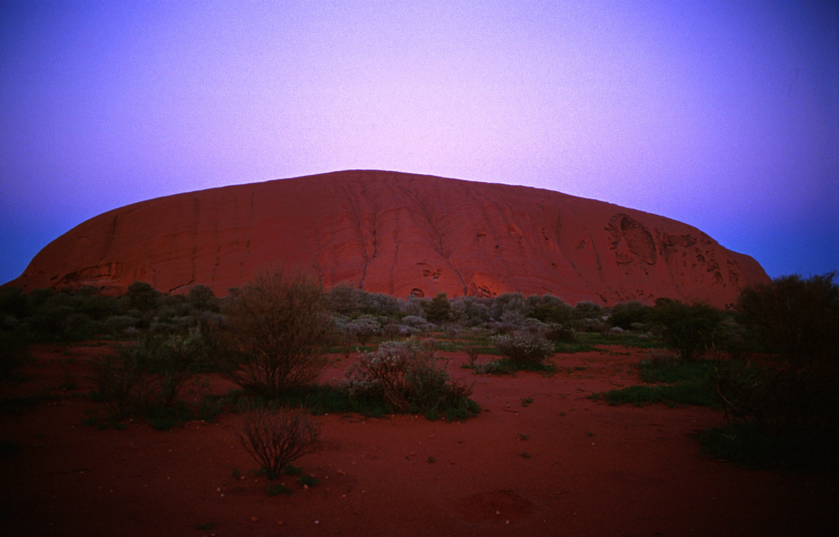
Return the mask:
[[[458,367],[465,355],[443,353],[454,376],[475,381],[472,398],[485,410],[477,419],[319,416],[319,451],[297,466],[320,484],[304,490],[284,477],[294,494],[269,498],[233,432],[240,416],[165,432],[138,423],[98,431],[82,425],[96,405],[81,395],[90,389],[86,364],[107,347],[40,346],[33,379],[6,386],[4,396],[67,375],[80,388],[0,417],[0,438],[21,447],[0,457],[0,534],[836,534],[839,492],[830,479],[746,471],[701,455],[691,435],[721,424],[721,412],[586,399],[639,383],[642,354],[618,354],[626,350],[556,355],[552,377],[475,377]],[[346,367],[339,362],[324,380]],[[195,529],[208,523],[215,526]]]

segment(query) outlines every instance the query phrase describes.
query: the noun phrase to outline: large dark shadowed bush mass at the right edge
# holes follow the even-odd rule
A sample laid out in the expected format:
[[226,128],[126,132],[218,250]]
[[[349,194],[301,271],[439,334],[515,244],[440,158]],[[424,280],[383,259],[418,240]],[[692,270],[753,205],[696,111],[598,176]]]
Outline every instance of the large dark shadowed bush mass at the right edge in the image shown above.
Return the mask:
[[[783,446],[774,452],[780,453],[776,466],[839,469],[835,458],[839,447],[839,285],[835,278],[836,272],[807,279],[782,276],[744,289],[737,301],[741,322],[777,361],[759,368],[720,364],[717,391],[730,420],[729,440],[745,442],[766,436]],[[717,440],[711,442],[711,449],[721,446]],[[802,452],[809,455],[801,457]],[[758,452],[753,454],[758,457]]]

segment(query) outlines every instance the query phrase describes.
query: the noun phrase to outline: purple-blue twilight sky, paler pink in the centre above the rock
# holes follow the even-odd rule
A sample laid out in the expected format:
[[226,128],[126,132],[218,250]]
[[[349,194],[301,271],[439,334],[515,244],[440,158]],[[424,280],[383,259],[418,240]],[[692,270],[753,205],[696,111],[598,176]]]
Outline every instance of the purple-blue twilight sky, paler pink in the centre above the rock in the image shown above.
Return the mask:
[[0,2],[0,282],[108,209],[351,168],[550,188],[769,276],[837,269],[837,6]]

